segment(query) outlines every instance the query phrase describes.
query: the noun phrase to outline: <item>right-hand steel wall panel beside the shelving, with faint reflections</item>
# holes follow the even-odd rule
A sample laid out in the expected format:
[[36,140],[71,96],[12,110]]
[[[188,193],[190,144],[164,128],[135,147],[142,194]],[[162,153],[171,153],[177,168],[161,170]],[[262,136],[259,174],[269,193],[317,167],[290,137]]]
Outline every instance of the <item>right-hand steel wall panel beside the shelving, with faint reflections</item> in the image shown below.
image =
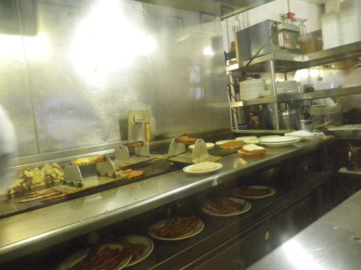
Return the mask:
[[[144,4],[158,133],[229,127],[220,20]],[[207,23],[201,24],[209,21]]]

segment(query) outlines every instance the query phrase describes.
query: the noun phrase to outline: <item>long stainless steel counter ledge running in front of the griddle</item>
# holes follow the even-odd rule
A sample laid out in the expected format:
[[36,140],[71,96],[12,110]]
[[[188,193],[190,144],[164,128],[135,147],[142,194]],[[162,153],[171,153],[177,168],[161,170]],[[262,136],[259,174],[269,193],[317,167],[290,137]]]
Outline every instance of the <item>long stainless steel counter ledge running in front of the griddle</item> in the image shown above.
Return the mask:
[[296,146],[269,148],[266,156],[252,159],[242,159],[232,154],[220,160],[223,167],[212,174],[191,175],[176,171],[1,219],[0,263],[307,153],[334,140],[331,137],[319,142],[300,142]]

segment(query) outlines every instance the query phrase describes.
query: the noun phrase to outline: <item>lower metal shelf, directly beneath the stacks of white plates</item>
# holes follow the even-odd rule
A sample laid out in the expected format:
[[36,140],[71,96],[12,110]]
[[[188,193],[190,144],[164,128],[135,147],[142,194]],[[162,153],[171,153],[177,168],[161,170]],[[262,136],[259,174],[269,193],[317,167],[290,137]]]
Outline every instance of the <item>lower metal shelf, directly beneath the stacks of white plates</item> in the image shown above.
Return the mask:
[[281,94],[277,96],[266,96],[262,98],[254,98],[249,100],[242,100],[232,102],[231,107],[242,107],[249,105],[257,105],[271,102],[285,102],[285,101],[301,101],[310,99],[327,98],[332,96],[352,96],[361,94],[361,86],[345,87],[345,88],[332,88],[326,90],[319,90],[312,93],[300,93],[300,94]]

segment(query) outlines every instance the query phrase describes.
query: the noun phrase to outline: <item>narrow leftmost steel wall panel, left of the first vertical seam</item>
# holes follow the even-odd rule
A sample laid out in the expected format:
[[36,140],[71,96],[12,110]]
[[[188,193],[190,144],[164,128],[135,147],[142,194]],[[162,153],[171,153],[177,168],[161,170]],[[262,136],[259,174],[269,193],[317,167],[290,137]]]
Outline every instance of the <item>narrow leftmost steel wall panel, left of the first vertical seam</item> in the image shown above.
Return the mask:
[[0,47],[0,103],[13,121],[19,156],[38,154],[20,25],[11,35],[0,34]]

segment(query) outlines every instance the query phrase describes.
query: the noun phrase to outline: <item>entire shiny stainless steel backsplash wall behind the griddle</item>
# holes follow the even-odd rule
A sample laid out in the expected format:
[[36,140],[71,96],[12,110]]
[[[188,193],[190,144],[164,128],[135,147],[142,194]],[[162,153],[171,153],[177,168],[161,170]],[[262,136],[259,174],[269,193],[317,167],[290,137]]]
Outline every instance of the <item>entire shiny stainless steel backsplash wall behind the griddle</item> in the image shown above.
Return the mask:
[[0,33],[0,103],[20,157],[124,141],[129,110],[151,112],[151,135],[229,127],[218,14],[133,0],[14,3],[20,18]]

